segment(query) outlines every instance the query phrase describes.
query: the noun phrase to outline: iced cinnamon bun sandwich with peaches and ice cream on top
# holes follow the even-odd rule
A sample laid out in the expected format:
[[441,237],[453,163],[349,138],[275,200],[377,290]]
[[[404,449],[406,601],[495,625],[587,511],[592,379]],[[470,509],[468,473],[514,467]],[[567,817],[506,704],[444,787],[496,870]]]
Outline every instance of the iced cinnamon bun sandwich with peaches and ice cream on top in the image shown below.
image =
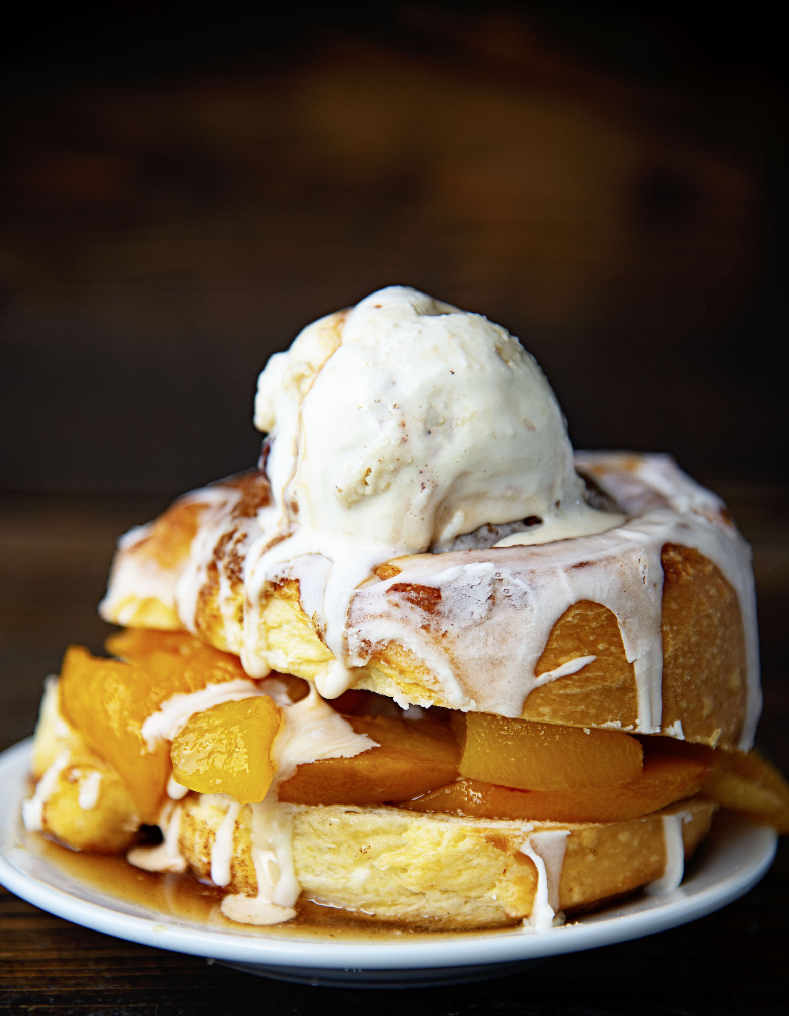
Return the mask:
[[746,545],[671,459],[574,455],[505,329],[382,290],[271,358],[255,423],[257,469],[121,539],[29,830],[242,924],[542,930],[678,885],[720,806],[789,824]]

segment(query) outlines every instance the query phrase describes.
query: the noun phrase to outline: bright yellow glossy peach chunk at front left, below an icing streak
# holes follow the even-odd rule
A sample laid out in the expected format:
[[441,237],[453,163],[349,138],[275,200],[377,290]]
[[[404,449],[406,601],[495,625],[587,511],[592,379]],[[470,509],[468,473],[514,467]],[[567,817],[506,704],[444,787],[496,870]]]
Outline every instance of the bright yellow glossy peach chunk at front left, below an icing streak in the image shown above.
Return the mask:
[[271,746],[282,710],[269,698],[240,699],[195,713],[173,742],[173,776],[198,793],[229,793],[241,805],[262,801],[276,766]]

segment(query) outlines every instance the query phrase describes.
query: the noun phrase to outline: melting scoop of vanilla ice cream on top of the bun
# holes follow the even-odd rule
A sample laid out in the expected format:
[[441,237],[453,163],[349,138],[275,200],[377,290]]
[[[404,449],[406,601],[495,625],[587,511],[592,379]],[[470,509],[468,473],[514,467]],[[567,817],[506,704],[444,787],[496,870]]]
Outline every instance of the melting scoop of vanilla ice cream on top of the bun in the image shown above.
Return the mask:
[[485,523],[530,518],[511,546],[621,520],[584,501],[562,410],[518,339],[412,289],[374,293],[271,357],[255,425],[281,511],[331,542],[415,553]]

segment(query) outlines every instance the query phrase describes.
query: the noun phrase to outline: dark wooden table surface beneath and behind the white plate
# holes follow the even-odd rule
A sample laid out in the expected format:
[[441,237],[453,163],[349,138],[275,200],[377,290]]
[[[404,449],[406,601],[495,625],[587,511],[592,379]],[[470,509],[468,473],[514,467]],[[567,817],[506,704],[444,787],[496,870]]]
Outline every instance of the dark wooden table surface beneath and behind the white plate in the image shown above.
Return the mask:
[[[759,743],[789,769],[782,647],[789,589],[789,489],[716,485],[754,549],[765,714]],[[115,536],[162,506],[139,501],[0,501],[0,747],[32,729],[42,678],[65,645],[97,650],[95,617]],[[280,983],[109,938],[0,890],[0,1012],[270,1014],[786,1012],[789,849],[743,899],[651,938],[550,960],[479,985],[355,992]]]

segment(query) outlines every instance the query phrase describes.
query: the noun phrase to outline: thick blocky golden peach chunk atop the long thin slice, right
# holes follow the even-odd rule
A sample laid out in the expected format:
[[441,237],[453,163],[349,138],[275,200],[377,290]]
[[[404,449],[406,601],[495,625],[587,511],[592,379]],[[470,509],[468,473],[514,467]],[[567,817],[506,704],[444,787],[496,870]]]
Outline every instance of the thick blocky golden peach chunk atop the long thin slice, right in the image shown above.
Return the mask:
[[458,768],[461,776],[522,790],[574,790],[632,783],[642,761],[639,742],[618,731],[469,712]]

